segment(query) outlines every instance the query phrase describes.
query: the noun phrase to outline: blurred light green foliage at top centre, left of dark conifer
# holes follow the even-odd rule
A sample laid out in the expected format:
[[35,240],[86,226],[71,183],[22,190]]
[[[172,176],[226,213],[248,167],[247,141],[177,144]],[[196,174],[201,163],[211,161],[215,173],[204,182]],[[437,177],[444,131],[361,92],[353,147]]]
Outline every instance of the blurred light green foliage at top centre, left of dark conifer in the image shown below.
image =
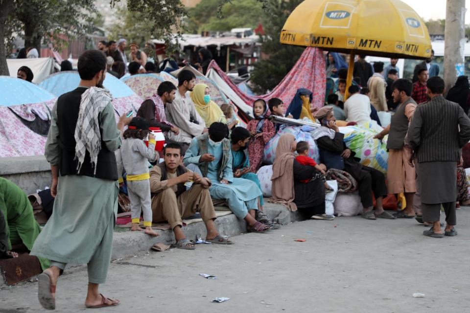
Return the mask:
[[258,0],[202,0],[188,10],[189,18],[185,22],[190,33],[230,31],[237,27],[255,28],[264,14]]

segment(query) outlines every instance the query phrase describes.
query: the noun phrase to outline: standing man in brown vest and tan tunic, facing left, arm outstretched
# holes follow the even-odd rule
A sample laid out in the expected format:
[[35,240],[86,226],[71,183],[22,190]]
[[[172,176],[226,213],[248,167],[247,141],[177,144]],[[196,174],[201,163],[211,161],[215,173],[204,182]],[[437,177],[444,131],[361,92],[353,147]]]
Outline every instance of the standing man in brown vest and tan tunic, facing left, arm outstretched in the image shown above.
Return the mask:
[[411,219],[415,217],[413,197],[416,192],[416,173],[415,168],[409,162],[412,152],[405,136],[406,132],[408,132],[408,125],[413,117],[417,104],[415,100],[410,97],[413,91],[411,81],[399,79],[393,84],[392,90],[393,101],[400,103],[400,105],[392,116],[390,125],[377,134],[375,138],[381,140],[388,134],[388,193],[405,194],[406,207],[396,213],[395,216],[397,218]]

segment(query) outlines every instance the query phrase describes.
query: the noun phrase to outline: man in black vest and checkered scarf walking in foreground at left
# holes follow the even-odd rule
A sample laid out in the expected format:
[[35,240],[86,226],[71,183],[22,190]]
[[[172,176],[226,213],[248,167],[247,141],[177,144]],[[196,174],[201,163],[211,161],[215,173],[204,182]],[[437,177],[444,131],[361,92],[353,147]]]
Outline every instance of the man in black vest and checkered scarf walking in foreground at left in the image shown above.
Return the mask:
[[[55,309],[55,289],[68,263],[88,265],[87,308],[115,306],[100,294],[106,281],[118,213],[118,169],[114,152],[130,121],[122,115],[118,127],[111,95],[103,89],[106,57],[85,51],[78,59],[79,86],[61,95],[52,109],[45,155],[52,172],[52,216],[31,250],[49,259],[39,275],[38,298]],[[60,175],[59,175],[60,173]]]

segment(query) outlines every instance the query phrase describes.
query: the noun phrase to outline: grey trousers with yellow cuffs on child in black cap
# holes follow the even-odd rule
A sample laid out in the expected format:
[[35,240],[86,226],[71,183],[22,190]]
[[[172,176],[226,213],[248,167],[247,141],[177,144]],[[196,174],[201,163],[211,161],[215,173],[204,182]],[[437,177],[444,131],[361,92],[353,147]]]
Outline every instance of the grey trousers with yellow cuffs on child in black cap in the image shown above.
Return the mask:
[[140,223],[141,212],[143,211],[143,225],[152,226],[150,180],[128,180],[127,193],[131,201],[132,223]]

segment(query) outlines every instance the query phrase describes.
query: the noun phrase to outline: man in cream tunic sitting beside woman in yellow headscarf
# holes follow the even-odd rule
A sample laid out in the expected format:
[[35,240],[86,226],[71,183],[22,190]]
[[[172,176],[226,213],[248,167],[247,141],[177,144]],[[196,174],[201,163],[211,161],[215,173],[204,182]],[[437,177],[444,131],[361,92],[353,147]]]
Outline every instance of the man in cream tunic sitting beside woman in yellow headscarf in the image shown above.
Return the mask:
[[196,84],[196,76],[190,70],[178,74],[178,90],[172,103],[167,103],[165,112],[168,122],[178,126],[179,133],[169,133],[168,137],[177,142],[191,143],[193,137],[207,133],[206,122],[196,112],[188,91]]

